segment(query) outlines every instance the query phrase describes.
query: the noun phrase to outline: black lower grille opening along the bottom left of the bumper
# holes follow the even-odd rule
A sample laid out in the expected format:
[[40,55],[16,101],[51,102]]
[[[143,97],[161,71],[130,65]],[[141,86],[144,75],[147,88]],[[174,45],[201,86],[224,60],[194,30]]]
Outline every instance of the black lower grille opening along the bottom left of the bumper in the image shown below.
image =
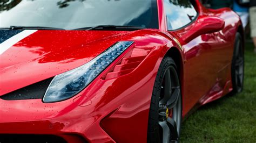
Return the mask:
[[0,134],[1,143],[45,143],[54,142],[62,143],[66,142],[63,138],[55,135],[36,135],[36,134]]

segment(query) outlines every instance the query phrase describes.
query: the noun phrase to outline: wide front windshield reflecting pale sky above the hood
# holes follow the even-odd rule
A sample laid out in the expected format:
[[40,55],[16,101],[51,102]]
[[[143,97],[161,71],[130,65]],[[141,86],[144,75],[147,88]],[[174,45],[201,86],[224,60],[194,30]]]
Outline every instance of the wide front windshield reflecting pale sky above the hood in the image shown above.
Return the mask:
[[97,25],[158,28],[156,0],[4,0],[0,27],[42,26],[72,30]]

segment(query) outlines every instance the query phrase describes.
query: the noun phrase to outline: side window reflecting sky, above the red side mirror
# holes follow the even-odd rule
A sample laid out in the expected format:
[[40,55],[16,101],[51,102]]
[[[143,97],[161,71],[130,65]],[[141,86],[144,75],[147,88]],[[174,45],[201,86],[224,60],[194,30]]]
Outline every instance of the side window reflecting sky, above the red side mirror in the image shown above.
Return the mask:
[[177,30],[194,20],[197,11],[188,0],[164,0],[168,30]]

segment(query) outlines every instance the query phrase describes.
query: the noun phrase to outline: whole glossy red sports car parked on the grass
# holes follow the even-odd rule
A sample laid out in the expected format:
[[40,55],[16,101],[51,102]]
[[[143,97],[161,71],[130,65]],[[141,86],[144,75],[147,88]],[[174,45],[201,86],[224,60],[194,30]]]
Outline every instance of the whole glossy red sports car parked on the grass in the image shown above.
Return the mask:
[[242,91],[244,33],[198,0],[0,2],[0,142],[177,142]]

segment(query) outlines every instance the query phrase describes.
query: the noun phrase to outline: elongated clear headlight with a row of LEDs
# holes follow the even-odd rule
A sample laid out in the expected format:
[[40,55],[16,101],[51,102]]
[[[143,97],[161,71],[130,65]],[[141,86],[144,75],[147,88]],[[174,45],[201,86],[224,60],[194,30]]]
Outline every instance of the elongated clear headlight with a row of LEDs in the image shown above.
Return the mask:
[[132,44],[133,41],[117,42],[85,65],[55,76],[43,102],[63,101],[77,95]]

